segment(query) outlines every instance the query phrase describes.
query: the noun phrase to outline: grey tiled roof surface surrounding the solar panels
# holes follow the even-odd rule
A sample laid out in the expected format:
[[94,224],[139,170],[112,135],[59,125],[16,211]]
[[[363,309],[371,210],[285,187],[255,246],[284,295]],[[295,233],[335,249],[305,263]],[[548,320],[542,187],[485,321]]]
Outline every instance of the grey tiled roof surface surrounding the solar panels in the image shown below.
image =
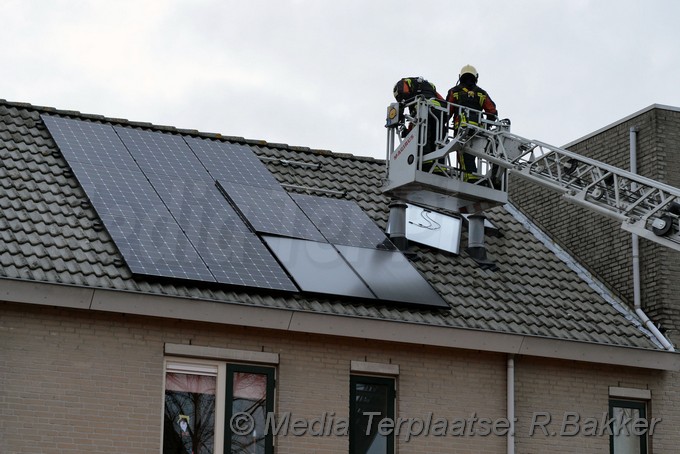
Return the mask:
[[0,101],[3,278],[658,349],[634,316],[603,299],[502,207],[487,212],[500,230],[500,235],[487,237],[488,253],[498,265],[495,271],[483,270],[465,252],[455,256],[411,246],[419,257],[414,265],[449,303],[444,311],[257,289],[234,291],[133,275],[87,203],[41,113],[246,143],[289,190],[312,187],[327,191],[316,195],[342,194],[381,228],[387,222],[381,160]]

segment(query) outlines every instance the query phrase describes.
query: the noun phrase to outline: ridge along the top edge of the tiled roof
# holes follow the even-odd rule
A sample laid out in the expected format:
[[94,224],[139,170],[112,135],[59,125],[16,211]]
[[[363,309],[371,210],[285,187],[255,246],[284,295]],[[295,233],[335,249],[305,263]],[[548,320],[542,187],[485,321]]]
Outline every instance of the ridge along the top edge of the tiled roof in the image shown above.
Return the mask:
[[107,117],[105,115],[85,113],[85,112],[80,112],[78,110],[67,110],[67,109],[58,109],[56,107],[50,107],[50,106],[39,106],[39,105],[27,103],[27,102],[8,101],[8,100],[3,99],[3,98],[0,98],[0,105],[6,105],[6,106],[10,106],[10,107],[17,107],[17,108],[24,108],[24,109],[32,109],[32,110],[36,110],[36,111],[41,112],[41,113],[57,114],[57,115],[63,115],[63,116],[67,116],[67,117],[76,117],[76,118],[87,119],[87,120],[106,121],[108,123],[114,123],[114,124],[120,124],[120,125],[125,125],[125,126],[132,126],[132,127],[139,127],[139,128],[145,128],[145,129],[153,129],[153,130],[156,130],[156,131],[173,132],[173,133],[177,133],[177,134],[187,134],[187,135],[193,135],[193,136],[196,136],[196,137],[201,137],[201,138],[206,138],[206,139],[216,139],[216,140],[223,140],[223,141],[227,141],[227,142],[237,142],[237,143],[243,143],[243,144],[246,144],[246,145],[258,145],[258,146],[264,146],[264,147],[268,147],[268,148],[277,148],[277,149],[290,150],[290,151],[296,151],[296,152],[302,152],[302,153],[310,153],[310,154],[314,154],[314,155],[333,156],[334,158],[351,159],[351,160],[361,161],[361,162],[371,162],[371,163],[384,163],[385,162],[384,159],[373,158],[373,157],[370,157],[370,156],[357,156],[357,155],[353,155],[351,153],[338,153],[338,152],[334,152],[332,150],[310,148],[310,147],[298,146],[298,145],[288,145],[286,143],[267,142],[266,140],[260,140],[260,139],[246,139],[246,138],[240,137],[240,136],[228,136],[228,135],[223,135],[221,133],[216,133],[216,132],[204,132],[204,131],[199,131],[197,129],[185,129],[185,128],[178,128],[176,126],[170,126],[170,125],[158,125],[158,124],[154,124],[154,123],[150,123],[150,122],[128,120],[127,118]]

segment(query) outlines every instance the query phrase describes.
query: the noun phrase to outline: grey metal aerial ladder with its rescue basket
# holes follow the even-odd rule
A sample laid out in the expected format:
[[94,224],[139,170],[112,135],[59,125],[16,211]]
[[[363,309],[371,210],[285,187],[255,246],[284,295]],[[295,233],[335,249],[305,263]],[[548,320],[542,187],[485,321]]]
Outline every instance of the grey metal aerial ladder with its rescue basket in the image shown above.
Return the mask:
[[[468,118],[478,115],[480,122],[453,131],[443,120],[449,108]],[[483,112],[458,105],[434,106],[422,96],[390,104],[386,127],[382,190],[393,198],[474,214],[507,203],[511,173],[620,221],[623,230],[680,251],[680,189],[512,134],[508,120],[486,119]],[[428,128],[436,131],[429,146]],[[456,153],[476,157],[474,178],[460,168]]]

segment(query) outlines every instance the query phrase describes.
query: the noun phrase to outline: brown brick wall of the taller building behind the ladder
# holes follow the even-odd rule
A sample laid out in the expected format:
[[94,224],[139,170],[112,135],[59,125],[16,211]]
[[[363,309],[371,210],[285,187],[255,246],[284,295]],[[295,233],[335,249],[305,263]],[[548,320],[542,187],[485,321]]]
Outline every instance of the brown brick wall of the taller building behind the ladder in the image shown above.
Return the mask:
[[[635,127],[638,173],[680,187],[680,112],[653,109],[587,138],[571,150],[630,169],[630,128]],[[548,140],[549,141],[549,140]],[[510,200],[628,304],[633,303],[630,234],[620,223],[574,206],[536,185],[511,181]],[[650,318],[680,342],[678,253],[640,239],[641,298]]]

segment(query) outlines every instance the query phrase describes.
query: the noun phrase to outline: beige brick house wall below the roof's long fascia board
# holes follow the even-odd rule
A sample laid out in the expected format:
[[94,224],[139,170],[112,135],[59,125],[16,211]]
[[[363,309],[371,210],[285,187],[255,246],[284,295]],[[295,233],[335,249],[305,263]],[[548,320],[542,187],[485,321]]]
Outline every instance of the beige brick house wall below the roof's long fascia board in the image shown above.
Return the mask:
[[[279,353],[276,407],[295,417],[347,417],[352,360],[399,365],[398,416],[505,417],[504,355],[19,304],[0,310],[3,453],[159,452],[166,342]],[[664,373],[517,358],[516,381],[517,452],[606,452],[607,437],[528,431],[536,411],[556,420],[565,411],[601,415],[608,386],[652,389],[654,416],[665,418],[654,442],[666,449],[657,452],[680,442],[671,404],[678,380]],[[505,443],[494,435],[401,437],[398,452],[503,453]],[[348,451],[344,437],[287,436],[277,445],[279,454]]]

